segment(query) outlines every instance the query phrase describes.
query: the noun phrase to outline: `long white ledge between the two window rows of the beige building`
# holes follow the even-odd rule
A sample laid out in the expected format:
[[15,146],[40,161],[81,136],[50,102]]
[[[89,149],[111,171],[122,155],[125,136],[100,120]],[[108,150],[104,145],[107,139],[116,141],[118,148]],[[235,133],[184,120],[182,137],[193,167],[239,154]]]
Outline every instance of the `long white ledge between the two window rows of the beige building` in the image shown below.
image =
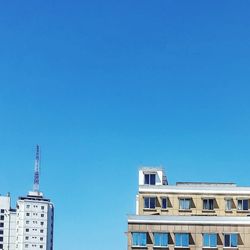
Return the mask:
[[129,224],[250,225],[250,217],[129,215]]

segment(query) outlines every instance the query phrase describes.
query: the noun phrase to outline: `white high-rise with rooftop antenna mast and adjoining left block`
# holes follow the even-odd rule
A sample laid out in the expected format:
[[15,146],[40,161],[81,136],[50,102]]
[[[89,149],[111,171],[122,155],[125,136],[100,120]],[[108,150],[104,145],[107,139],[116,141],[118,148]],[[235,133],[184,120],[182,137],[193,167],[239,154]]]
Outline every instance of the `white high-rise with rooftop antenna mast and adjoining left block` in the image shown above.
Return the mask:
[[20,196],[15,209],[10,196],[0,196],[0,250],[53,250],[54,206],[39,191],[37,152],[33,191]]

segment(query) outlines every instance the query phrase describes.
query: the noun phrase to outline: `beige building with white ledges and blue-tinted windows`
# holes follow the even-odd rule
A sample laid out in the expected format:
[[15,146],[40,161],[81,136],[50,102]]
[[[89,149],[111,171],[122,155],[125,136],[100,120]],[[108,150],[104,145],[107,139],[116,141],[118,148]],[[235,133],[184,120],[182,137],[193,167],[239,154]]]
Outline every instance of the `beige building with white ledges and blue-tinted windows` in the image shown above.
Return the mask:
[[161,168],[139,170],[128,250],[250,250],[250,187],[233,183],[168,185]]

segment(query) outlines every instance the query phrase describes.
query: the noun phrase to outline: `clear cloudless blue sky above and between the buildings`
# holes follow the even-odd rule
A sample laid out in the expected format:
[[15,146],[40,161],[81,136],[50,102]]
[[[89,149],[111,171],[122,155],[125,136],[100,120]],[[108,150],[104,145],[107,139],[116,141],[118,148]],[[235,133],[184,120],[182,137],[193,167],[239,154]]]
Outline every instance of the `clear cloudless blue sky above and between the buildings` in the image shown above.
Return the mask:
[[1,1],[0,192],[32,188],[39,143],[55,249],[125,250],[140,165],[250,185],[249,9]]

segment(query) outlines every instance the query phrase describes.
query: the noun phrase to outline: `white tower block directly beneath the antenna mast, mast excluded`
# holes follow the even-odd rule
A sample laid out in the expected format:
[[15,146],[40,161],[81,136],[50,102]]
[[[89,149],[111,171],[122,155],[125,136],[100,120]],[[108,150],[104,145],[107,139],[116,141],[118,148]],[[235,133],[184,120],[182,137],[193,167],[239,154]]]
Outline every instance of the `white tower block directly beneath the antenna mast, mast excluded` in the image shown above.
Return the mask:
[[54,208],[40,192],[19,197],[16,210],[16,250],[53,250]]

